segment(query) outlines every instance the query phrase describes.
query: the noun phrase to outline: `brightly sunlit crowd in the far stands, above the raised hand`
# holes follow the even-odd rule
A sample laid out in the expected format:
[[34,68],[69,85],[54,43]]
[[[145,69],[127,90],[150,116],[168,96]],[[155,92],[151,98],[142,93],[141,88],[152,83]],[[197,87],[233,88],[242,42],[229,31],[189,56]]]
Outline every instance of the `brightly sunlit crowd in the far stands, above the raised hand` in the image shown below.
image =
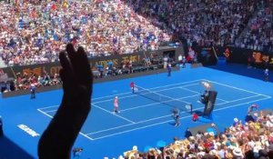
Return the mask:
[[68,42],[96,56],[155,50],[170,40],[121,0],[39,2],[0,5],[0,55],[6,65],[55,62]]

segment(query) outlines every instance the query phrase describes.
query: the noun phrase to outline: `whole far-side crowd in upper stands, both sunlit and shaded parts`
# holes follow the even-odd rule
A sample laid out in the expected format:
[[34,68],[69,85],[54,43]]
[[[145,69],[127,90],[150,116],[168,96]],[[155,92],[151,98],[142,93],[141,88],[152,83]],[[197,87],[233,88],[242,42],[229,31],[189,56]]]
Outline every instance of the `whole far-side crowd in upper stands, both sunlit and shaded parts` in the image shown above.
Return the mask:
[[24,0],[2,2],[0,11],[6,65],[55,62],[68,42],[90,57],[155,50],[170,40],[273,50],[271,0]]

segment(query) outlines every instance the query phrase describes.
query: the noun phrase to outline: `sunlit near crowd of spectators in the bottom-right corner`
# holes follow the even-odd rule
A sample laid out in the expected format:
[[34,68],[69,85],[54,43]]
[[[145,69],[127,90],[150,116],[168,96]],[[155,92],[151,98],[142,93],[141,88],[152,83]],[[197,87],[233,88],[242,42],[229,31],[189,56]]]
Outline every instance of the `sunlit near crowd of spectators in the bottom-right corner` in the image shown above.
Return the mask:
[[[224,133],[198,132],[196,136],[186,139],[175,137],[172,144],[150,148],[147,153],[141,153],[134,146],[118,159],[271,159],[273,114],[260,111],[254,116],[245,124],[234,118],[234,124]],[[216,125],[211,124],[211,127],[215,128]]]

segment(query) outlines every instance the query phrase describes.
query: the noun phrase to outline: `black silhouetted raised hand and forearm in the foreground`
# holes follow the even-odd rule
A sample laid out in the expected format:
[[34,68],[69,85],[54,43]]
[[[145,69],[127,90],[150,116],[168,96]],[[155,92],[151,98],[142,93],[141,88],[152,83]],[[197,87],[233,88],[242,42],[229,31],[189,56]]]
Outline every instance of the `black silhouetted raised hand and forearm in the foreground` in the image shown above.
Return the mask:
[[70,158],[71,148],[90,111],[93,75],[83,47],[66,45],[59,55],[64,95],[38,145],[39,158]]

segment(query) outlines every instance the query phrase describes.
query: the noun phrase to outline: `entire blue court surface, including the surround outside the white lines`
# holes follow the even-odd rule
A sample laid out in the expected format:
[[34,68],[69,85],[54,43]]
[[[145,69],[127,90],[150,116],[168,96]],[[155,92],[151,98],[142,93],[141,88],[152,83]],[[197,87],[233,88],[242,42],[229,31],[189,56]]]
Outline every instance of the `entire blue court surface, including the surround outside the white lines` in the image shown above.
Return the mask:
[[[129,89],[131,81],[148,92],[133,94]],[[204,92],[202,82],[212,84],[218,93],[213,120],[220,128],[229,126],[234,117],[244,120],[249,104],[268,108],[272,103],[271,83],[205,67],[181,69],[171,77],[157,74],[95,84],[92,111],[75,146],[84,148],[82,158],[98,159],[117,157],[135,144],[143,151],[147,146],[157,146],[157,141],[169,143],[174,136],[182,138],[188,127],[204,124],[192,122],[187,107],[193,104],[194,111],[203,112],[204,105],[199,102]],[[150,95],[161,96],[161,101]],[[22,124],[42,134],[56,114],[61,96],[62,91],[57,90],[37,94],[36,100],[30,100],[29,95],[1,99],[5,135],[36,158],[39,135],[25,133]],[[113,114],[115,96],[119,99],[119,114]],[[182,111],[179,127],[174,126],[174,108]]]

